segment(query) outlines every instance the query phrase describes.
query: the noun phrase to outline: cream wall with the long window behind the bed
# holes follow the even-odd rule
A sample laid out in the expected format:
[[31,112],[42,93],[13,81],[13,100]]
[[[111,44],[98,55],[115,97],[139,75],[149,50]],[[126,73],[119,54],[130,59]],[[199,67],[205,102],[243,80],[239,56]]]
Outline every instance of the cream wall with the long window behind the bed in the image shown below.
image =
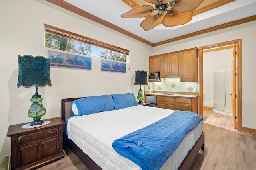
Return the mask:
[[6,137],[8,126],[32,121],[27,111],[35,87],[17,88],[18,55],[47,57],[45,23],[130,50],[130,70],[129,64],[126,64],[125,74],[102,72],[101,60],[97,57],[92,57],[92,70],[51,66],[52,87],[38,88],[46,107],[46,115],[42,119],[60,117],[62,98],[130,92],[138,95],[139,86],[134,86],[135,71],[148,71],[148,56],[152,55],[152,47],[132,41],[130,37],[99,24],[92,25],[92,21],[46,1],[0,0],[0,4],[0,156],[10,154],[11,140]]

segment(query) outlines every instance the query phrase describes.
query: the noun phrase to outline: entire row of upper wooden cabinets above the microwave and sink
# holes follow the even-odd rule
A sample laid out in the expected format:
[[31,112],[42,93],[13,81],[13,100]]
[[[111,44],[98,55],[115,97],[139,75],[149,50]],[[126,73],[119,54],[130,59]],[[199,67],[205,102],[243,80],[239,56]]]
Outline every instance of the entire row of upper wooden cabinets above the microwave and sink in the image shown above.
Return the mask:
[[198,82],[198,48],[149,57],[149,72],[161,78],[179,77],[180,82]]

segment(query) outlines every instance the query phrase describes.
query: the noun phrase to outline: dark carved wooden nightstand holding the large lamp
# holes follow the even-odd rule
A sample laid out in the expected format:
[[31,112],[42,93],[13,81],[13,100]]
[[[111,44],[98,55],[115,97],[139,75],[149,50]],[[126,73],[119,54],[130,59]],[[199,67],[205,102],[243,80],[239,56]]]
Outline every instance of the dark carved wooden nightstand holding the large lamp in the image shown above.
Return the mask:
[[46,119],[49,124],[30,129],[22,124],[9,126],[7,136],[11,137],[11,166],[13,169],[36,169],[62,157],[62,127],[60,117]]

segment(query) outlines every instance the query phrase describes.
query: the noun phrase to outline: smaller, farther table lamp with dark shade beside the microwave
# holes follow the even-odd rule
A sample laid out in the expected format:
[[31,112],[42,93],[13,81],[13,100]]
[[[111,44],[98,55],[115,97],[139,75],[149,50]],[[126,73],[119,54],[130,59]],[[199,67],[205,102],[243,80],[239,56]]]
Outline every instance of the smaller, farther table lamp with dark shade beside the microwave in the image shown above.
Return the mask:
[[147,80],[147,72],[146,71],[135,71],[135,82],[134,85],[140,85],[140,89],[138,91],[138,104],[142,104],[142,100],[144,99],[143,91],[141,90],[141,85],[148,85]]

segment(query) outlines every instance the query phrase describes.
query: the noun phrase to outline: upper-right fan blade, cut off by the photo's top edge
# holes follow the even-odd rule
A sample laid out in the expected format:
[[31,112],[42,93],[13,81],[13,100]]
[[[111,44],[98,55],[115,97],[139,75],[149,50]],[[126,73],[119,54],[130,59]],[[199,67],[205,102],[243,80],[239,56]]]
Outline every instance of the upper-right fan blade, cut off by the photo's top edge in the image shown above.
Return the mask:
[[176,5],[172,8],[178,12],[190,12],[196,9],[204,0],[177,0]]

